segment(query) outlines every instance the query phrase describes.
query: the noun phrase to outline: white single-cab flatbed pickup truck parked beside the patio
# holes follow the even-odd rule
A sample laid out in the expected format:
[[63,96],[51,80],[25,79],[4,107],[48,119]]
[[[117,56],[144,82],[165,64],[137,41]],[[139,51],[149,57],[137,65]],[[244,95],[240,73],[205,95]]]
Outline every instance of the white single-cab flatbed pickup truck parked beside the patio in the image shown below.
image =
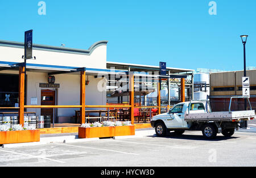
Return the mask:
[[[155,128],[159,137],[163,137],[171,131],[181,135],[185,130],[200,130],[207,138],[214,138],[217,133],[231,137],[235,129],[238,130],[238,123],[241,120],[253,120],[255,118],[255,111],[253,110],[231,111],[233,98],[244,97],[230,98],[229,111],[226,112],[212,112],[209,101],[206,100],[192,100],[176,104],[169,112],[154,116],[151,120],[151,126]],[[250,104],[249,98],[247,100]]]

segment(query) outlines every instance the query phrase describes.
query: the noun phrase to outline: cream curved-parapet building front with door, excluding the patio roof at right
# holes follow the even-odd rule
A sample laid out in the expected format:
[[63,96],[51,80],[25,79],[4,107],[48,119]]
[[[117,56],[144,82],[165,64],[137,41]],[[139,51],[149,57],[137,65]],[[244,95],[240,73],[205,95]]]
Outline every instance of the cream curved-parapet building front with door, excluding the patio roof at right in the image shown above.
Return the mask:
[[[106,90],[98,90],[106,70],[106,45],[108,41],[99,41],[88,50],[59,48],[55,46],[34,45],[33,56],[36,60],[27,60],[25,105],[79,105],[80,73],[57,74],[79,67],[86,67],[86,104],[106,105]],[[24,62],[24,44],[12,41],[0,41],[0,107],[18,107],[18,74],[11,66]],[[55,84],[48,84],[48,76],[55,77]],[[101,87],[105,85],[101,84]],[[66,109],[27,109],[37,116],[51,115],[55,122],[74,122],[75,108]],[[10,109],[9,109],[10,111]]]

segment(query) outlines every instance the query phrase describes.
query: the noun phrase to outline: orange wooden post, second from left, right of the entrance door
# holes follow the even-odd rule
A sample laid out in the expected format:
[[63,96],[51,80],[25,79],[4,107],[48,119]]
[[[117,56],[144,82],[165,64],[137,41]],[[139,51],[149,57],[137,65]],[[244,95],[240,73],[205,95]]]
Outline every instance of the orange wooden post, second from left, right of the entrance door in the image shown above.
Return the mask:
[[85,124],[85,71],[80,75],[80,124]]

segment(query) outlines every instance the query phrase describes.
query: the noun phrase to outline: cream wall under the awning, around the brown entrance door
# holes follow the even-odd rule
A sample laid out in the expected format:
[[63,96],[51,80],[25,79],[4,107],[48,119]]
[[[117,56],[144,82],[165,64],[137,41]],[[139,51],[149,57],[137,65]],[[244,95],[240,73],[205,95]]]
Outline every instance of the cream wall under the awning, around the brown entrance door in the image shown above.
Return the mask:
[[[1,71],[5,74],[18,74],[18,71]],[[56,88],[56,105],[80,105],[80,75],[61,74],[55,75],[56,82],[60,88]],[[106,105],[106,84],[102,79],[96,79],[94,76],[86,75],[90,83],[85,87],[86,105]],[[103,80],[104,81],[104,80]],[[51,88],[40,88],[39,83],[48,83],[47,73],[27,72],[27,105],[31,105],[31,98],[37,98],[37,105],[41,104],[41,90]],[[98,90],[98,87],[102,87]],[[104,89],[102,91],[102,89]],[[54,90],[54,89],[53,89]],[[94,108],[99,109],[99,108]],[[57,117],[75,116],[75,110],[78,108],[57,109]],[[93,110],[90,108],[90,110]],[[36,112],[40,116],[40,109],[27,109],[28,112]]]

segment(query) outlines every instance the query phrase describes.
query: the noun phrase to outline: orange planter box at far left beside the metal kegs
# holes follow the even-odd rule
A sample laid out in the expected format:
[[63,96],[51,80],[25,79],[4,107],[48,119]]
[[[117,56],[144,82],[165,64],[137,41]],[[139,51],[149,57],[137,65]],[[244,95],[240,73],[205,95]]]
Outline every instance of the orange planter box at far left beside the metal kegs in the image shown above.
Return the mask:
[[10,143],[40,142],[39,130],[0,132],[0,145]]

